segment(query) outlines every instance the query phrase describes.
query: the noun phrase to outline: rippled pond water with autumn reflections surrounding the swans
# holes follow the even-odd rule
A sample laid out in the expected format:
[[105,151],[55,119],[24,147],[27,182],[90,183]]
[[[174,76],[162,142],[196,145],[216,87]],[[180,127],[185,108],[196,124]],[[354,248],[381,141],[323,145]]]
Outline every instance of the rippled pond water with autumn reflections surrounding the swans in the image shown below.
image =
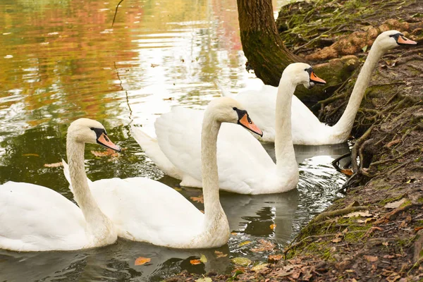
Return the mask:
[[[116,3],[115,3],[116,2]],[[235,0],[118,1],[4,0],[0,3],[0,183],[36,183],[72,198],[60,167],[68,124],[88,117],[102,122],[118,157],[95,157],[87,145],[92,180],[147,176],[191,199],[201,190],[178,188],[130,137],[130,125],[152,132],[155,118],[176,104],[194,109],[220,92],[256,87],[245,71]],[[284,1],[274,1],[280,7]],[[269,154],[273,148],[265,144]],[[161,281],[183,269],[231,271],[231,258],[264,261],[252,252],[260,239],[283,247],[325,209],[345,181],[330,165],[348,145],[295,147],[298,190],[278,195],[221,193],[234,235],[211,250],[170,250],[118,240],[76,252],[17,253],[0,250],[0,281]],[[92,152],[94,151],[94,153]],[[202,204],[194,202],[202,209]],[[272,229],[271,225],[276,225]],[[252,243],[243,245],[251,241]],[[215,251],[226,257],[217,258]],[[204,264],[190,259],[207,257]],[[149,264],[135,266],[137,257]]]

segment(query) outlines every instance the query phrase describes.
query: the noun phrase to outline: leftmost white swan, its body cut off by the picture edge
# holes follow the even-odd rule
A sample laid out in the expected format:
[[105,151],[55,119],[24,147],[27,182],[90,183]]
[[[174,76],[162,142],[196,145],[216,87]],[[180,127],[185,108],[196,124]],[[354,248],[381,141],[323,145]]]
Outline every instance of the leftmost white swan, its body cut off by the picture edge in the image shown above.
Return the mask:
[[84,169],[85,143],[121,149],[101,123],[87,118],[68,128],[66,153],[78,208],[58,192],[40,185],[9,181],[0,185],[0,248],[18,252],[80,250],[109,245],[117,230],[97,206]]

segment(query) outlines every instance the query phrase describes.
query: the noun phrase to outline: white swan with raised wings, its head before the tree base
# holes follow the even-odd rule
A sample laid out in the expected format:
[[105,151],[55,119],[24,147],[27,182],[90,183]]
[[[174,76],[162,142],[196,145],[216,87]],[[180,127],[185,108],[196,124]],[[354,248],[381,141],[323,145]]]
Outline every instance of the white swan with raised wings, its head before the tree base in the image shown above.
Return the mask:
[[[291,137],[290,104],[297,85],[309,87],[314,83],[324,83],[324,80],[317,78],[305,63],[290,64],[283,71],[276,100],[276,164],[247,130],[232,124],[222,125],[217,142],[221,190],[271,194],[296,188],[298,166]],[[155,121],[157,138],[140,128],[132,128],[133,137],[164,173],[182,180],[180,185],[200,188],[203,185],[199,146],[203,118],[207,118],[204,111],[175,107]]]

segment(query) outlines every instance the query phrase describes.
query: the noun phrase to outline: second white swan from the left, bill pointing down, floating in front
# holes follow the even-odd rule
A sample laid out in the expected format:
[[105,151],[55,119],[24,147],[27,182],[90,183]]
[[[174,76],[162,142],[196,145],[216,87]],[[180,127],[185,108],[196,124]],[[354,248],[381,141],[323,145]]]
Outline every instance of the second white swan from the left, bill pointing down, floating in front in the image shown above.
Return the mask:
[[[239,123],[262,134],[234,99],[221,97],[209,103],[202,123],[202,161],[199,164],[204,180],[204,214],[176,190],[149,178],[90,182],[95,200],[117,226],[119,237],[180,249],[220,247],[228,242],[229,223],[219,200],[216,164],[216,141],[221,123]],[[180,130],[183,139],[184,125],[177,122],[173,125]],[[63,164],[65,176],[71,180],[68,167]]]

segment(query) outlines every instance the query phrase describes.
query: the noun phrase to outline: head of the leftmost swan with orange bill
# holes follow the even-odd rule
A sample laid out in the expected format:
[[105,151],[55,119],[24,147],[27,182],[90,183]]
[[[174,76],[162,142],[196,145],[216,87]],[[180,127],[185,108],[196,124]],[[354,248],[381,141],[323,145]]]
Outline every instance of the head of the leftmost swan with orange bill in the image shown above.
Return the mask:
[[102,123],[90,118],[78,118],[68,128],[68,140],[82,143],[93,143],[103,145],[115,151],[121,152],[121,148],[114,145],[107,136],[106,129]]

